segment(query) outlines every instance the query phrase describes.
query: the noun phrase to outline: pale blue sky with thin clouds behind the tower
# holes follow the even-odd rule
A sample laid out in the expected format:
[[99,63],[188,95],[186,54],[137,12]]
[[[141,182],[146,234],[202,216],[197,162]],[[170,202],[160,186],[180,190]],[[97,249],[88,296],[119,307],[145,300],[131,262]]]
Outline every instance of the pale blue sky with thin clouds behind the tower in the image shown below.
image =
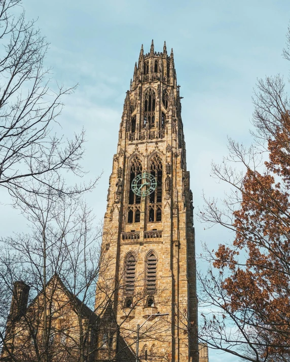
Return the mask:
[[[106,208],[108,178],[117,149],[119,124],[126,91],[133,77],[141,44],[149,52],[173,48],[182,118],[191,173],[195,211],[202,192],[223,197],[225,185],[210,177],[210,164],[227,154],[227,136],[249,144],[251,97],[257,78],[283,74],[288,64],[281,56],[290,20],[287,0],[25,0],[28,19],[37,19],[50,49],[46,65],[52,84],[71,87],[59,118],[63,134],[71,137],[85,128],[87,178],[102,173],[87,196],[97,220]],[[26,221],[2,194],[2,234],[23,231]],[[196,248],[216,249],[231,235],[218,227],[204,230],[197,221]],[[199,265],[203,268],[204,265]],[[209,352],[210,362],[235,357]]]

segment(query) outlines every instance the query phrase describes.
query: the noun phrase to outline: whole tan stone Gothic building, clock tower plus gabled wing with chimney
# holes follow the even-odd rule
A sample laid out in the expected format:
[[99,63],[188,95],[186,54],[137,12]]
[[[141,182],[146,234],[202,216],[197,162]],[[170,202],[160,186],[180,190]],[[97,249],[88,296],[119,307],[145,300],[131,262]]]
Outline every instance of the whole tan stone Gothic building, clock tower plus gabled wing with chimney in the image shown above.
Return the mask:
[[208,362],[179,89],[173,50],[142,46],[113,157],[95,306],[57,274],[27,306],[30,287],[16,281],[0,360]]

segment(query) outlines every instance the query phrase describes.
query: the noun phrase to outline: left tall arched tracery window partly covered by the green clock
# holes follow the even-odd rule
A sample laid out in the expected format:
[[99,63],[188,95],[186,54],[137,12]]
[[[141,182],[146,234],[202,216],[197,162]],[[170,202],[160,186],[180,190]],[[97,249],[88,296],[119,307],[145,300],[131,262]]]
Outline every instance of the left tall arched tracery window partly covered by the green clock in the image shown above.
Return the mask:
[[[135,155],[130,163],[130,185],[129,185],[129,206],[128,206],[128,223],[140,222],[140,203],[141,196],[136,195],[131,188],[134,178],[142,173],[142,163],[140,157]],[[141,179],[139,181],[141,184]]]

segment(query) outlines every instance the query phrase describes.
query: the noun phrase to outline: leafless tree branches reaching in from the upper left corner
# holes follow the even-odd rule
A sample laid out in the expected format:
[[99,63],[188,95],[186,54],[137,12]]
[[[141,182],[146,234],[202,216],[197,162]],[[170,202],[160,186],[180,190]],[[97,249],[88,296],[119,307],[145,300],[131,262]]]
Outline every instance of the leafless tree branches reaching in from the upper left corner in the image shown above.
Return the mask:
[[61,171],[83,174],[79,161],[85,133],[64,140],[53,130],[60,121],[61,97],[75,87],[50,89],[50,69],[44,65],[49,44],[35,21],[25,20],[24,11],[13,15],[21,4],[0,1],[0,186],[16,198],[17,189],[47,196],[47,186],[78,194],[94,182],[69,187]]

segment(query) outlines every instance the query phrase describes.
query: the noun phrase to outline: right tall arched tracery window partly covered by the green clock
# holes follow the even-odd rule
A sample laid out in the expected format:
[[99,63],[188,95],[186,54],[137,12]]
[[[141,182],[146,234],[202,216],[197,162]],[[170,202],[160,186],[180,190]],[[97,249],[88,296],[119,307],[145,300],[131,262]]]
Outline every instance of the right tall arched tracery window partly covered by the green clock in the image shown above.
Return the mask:
[[151,157],[150,173],[157,180],[157,187],[149,198],[149,222],[162,220],[162,159],[158,153]]

